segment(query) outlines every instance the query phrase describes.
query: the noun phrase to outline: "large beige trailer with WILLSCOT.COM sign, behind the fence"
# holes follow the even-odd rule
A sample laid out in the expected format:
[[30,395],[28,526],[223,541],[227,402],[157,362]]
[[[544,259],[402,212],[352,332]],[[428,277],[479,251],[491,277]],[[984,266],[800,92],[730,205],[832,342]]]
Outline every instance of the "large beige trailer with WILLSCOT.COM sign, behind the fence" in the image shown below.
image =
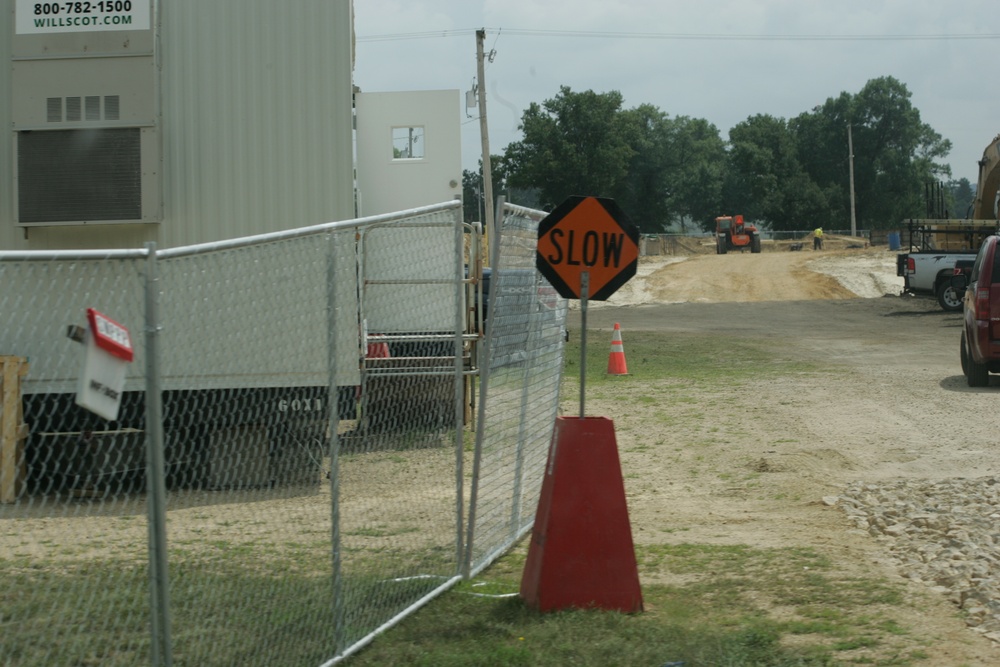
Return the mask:
[[[362,381],[359,334],[457,335],[457,202],[429,229],[338,232],[334,253],[294,231],[355,217],[351,0],[6,2],[0,354],[31,362],[29,467],[46,432],[145,428],[148,267],[129,253],[150,242],[174,459],[244,427],[274,451],[322,439],[331,381],[352,404]],[[60,254],[81,251],[96,254]],[[117,423],[73,404],[81,348],[64,332],[87,307],[135,339]]]

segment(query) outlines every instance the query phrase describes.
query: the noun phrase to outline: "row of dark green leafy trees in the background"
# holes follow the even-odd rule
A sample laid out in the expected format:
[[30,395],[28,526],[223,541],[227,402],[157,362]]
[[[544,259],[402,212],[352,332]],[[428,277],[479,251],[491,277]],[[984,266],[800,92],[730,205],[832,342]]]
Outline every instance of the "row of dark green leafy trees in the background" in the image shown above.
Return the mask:
[[[704,119],[563,86],[524,111],[520,141],[491,155],[493,189],[542,209],[611,197],[649,234],[712,230],[716,216],[737,213],[773,230],[839,230],[850,229],[853,169],[858,229],[965,217],[972,186],[951,180],[951,142],[910,97],[893,77],[872,79],[790,120],[750,116],[726,140]],[[464,172],[467,220],[482,219],[481,170]]]

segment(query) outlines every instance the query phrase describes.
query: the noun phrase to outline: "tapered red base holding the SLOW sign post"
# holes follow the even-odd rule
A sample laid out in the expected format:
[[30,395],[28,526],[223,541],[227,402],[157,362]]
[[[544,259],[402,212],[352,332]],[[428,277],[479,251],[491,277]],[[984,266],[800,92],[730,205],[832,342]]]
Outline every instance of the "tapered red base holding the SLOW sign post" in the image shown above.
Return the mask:
[[558,417],[521,579],[540,611],[642,611],[614,422]]

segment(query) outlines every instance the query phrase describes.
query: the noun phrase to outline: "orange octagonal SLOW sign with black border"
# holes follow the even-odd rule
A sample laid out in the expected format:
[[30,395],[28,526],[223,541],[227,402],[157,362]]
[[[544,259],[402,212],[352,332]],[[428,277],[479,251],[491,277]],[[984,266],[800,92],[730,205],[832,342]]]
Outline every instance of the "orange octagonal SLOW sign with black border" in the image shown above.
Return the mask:
[[535,265],[560,295],[579,299],[589,274],[587,298],[604,301],[635,275],[639,230],[613,199],[569,197],[538,223]]

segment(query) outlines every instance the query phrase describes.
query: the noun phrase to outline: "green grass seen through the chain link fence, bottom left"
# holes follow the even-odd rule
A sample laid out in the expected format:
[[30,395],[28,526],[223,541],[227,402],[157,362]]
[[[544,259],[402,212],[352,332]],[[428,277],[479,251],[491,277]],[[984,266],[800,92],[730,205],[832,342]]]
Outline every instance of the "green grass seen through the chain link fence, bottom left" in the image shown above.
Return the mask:
[[[210,564],[192,559],[170,568],[173,664],[303,667],[328,660],[335,641],[329,551],[302,552],[282,564],[272,560],[273,554],[249,558],[233,554],[232,545],[218,546],[230,557]],[[260,567],[261,559],[266,567]],[[401,571],[399,563],[387,567]],[[438,567],[454,571],[453,564]],[[145,563],[34,560],[4,569],[4,665],[152,664]],[[366,616],[348,618],[345,644],[360,640],[446,578],[354,572],[344,582],[343,595],[348,606],[351,599],[365,600]],[[14,595],[17,590],[32,595]]]

